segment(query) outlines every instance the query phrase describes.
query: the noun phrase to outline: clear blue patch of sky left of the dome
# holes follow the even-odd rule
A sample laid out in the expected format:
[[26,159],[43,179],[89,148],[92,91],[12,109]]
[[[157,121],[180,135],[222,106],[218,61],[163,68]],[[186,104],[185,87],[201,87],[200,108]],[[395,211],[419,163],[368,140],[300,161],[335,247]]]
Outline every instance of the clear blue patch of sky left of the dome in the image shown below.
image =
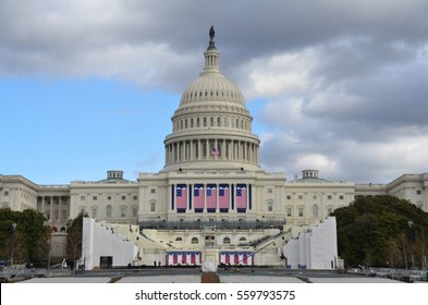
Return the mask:
[[181,98],[100,78],[9,77],[0,90],[2,173],[38,184],[100,180],[110,169],[130,180],[159,171]]

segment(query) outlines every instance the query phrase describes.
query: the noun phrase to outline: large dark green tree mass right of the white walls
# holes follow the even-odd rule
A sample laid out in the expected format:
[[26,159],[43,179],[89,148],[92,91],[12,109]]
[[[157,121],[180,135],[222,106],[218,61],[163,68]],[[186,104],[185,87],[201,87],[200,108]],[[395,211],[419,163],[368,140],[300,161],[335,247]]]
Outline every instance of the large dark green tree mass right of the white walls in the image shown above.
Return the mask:
[[333,213],[339,255],[351,266],[421,267],[428,213],[393,196],[358,197]]

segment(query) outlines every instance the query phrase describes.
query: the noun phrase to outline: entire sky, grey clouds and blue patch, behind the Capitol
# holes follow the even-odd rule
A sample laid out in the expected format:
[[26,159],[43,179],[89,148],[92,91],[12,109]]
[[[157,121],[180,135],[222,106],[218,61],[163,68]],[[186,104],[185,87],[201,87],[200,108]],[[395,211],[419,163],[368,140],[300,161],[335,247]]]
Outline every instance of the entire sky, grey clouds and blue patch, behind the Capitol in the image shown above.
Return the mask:
[[426,0],[0,0],[0,174],[159,171],[211,25],[264,169],[428,172],[427,16]]

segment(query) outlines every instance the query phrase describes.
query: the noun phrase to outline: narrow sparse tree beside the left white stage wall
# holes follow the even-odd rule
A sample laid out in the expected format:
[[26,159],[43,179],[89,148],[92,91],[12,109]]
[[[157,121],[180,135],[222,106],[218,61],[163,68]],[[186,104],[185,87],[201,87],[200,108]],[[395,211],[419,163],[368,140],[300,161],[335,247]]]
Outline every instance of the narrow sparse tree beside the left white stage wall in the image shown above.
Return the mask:
[[82,237],[83,237],[83,218],[87,213],[81,212],[76,218],[70,220],[66,224],[66,259],[72,261],[73,268],[76,267],[76,260],[82,255]]

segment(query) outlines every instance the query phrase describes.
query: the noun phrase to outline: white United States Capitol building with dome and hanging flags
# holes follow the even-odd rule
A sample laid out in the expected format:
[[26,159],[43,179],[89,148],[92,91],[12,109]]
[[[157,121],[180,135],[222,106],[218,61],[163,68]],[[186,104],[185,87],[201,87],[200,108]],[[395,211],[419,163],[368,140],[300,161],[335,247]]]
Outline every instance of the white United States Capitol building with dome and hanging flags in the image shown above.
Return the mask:
[[[120,234],[130,243],[133,264],[140,265],[283,265],[289,241],[328,222],[326,217],[357,196],[393,195],[428,211],[428,173],[356,184],[323,179],[316,169],[303,169],[293,181],[264,171],[253,118],[240,88],[221,73],[210,36],[204,70],[172,115],[163,169],[139,173],[136,181],[109,170],[99,181],[68,185],[0,174],[1,207],[36,209],[58,232],[84,211],[90,234],[99,231],[98,237],[88,233],[86,239]],[[88,266],[115,264],[102,254],[102,245],[86,251]]]

